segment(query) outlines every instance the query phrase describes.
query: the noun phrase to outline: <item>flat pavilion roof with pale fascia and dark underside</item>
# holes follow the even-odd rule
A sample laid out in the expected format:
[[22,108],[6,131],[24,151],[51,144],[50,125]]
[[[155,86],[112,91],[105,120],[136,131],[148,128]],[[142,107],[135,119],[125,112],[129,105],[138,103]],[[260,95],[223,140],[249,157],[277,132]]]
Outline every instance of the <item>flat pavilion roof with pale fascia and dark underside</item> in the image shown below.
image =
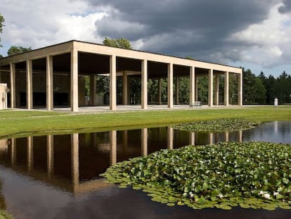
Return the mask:
[[[164,70],[167,69],[168,63],[172,63],[174,65],[174,71],[176,68],[177,72],[184,72],[186,68],[189,67],[195,67],[198,69],[200,68],[200,70],[213,69],[221,72],[228,71],[231,73],[243,72],[242,68],[234,67],[231,65],[209,63],[205,61],[192,60],[176,56],[167,56],[164,54],[155,54],[152,52],[138,51],[134,49],[120,49],[78,40],[70,40],[68,42],[27,51],[22,54],[6,56],[0,59],[0,65],[5,69],[5,65],[6,68],[8,68],[7,65],[10,63],[18,63],[18,68],[25,68],[25,65],[21,63],[27,60],[32,60],[34,61],[34,66],[36,66],[36,68],[39,64],[39,66],[42,66],[39,70],[44,70],[46,56],[56,56],[56,58],[53,60],[56,62],[56,69],[59,68],[60,70],[68,70],[70,69],[70,52],[72,50],[77,50],[79,52],[79,72],[84,74],[108,72],[109,56],[117,57],[117,71],[139,71],[141,68],[140,62],[142,60],[147,60],[149,62],[150,72],[164,72]],[[101,66],[97,67],[96,62],[98,62],[98,65]],[[60,65],[63,65],[63,67],[60,67]],[[186,72],[188,72],[188,70],[186,70]],[[181,74],[183,75],[183,73]]]

